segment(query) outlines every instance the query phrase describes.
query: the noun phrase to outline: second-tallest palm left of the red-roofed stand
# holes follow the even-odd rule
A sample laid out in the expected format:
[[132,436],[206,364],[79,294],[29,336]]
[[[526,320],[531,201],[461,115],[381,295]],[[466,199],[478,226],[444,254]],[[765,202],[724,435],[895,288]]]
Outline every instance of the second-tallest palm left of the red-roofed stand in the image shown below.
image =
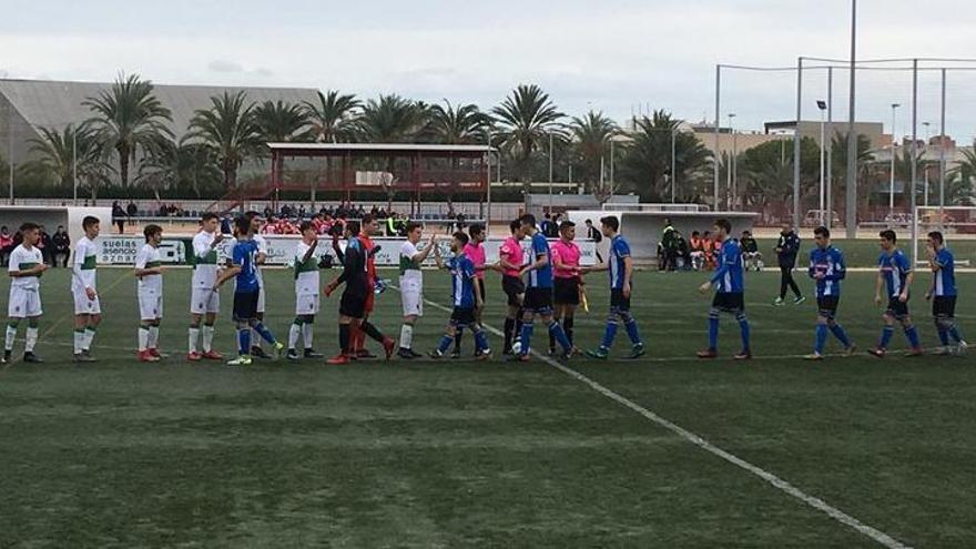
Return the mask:
[[225,91],[210,100],[211,108],[197,110],[190,120],[187,139],[213,148],[224,172],[224,185],[234,190],[237,187],[237,169],[247,157],[257,155],[263,146],[254,103],[248,102],[243,91]]

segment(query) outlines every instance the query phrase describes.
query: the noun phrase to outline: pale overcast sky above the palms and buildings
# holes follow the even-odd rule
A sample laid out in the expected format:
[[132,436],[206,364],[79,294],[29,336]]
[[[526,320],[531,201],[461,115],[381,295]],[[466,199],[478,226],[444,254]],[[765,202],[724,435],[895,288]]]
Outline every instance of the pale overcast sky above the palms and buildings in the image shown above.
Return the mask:
[[[850,54],[850,0],[0,0],[0,77],[339,89],[365,96],[498,103],[538,83],[569,114],[618,120],[667,109],[714,116],[715,63],[795,65]],[[861,0],[858,58],[976,52],[972,0]],[[976,67],[976,65],[974,65]],[[819,116],[823,71],[805,80]],[[837,71],[837,118],[846,75]],[[795,75],[729,72],[723,119],[759,130],[792,119]],[[907,105],[907,73],[861,77],[861,119]],[[938,73],[923,73],[919,121],[938,122]],[[949,133],[976,133],[976,71],[949,75]],[[903,109],[898,125],[909,122]],[[902,133],[899,131],[898,133]],[[924,135],[923,130],[919,134]]]

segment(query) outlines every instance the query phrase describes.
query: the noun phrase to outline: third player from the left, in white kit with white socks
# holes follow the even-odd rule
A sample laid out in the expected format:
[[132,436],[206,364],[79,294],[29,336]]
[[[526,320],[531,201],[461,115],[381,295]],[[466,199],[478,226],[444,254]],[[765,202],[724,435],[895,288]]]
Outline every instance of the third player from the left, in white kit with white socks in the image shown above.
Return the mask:
[[163,228],[146,225],[142,231],[145,244],[135,255],[135,277],[139,278],[139,362],[155,363],[159,350],[160,321],[163,318],[163,261],[160,243]]

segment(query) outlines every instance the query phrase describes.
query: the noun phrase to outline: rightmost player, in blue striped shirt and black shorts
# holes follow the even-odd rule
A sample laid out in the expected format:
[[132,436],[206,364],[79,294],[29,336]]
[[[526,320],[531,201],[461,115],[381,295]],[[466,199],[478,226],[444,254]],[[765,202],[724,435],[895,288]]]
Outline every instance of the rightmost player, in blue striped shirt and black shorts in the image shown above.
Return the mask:
[[[932,299],[932,317],[938,332],[941,347],[936,355],[963,354],[968,345],[956,326],[956,263],[953,253],[945,245],[945,238],[938,231],[928,233],[928,266],[932,270],[932,287],[925,294]],[[949,337],[956,344],[949,345]]]

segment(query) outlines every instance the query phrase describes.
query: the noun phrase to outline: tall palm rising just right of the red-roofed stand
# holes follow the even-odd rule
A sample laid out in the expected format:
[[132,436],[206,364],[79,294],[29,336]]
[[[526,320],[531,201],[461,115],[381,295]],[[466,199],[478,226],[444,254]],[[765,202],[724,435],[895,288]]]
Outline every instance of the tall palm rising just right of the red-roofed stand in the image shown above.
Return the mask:
[[549,133],[562,134],[565,115],[536,84],[519,84],[491,112],[501,124],[501,148],[514,155],[516,175],[528,191],[532,153],[548,143]]

